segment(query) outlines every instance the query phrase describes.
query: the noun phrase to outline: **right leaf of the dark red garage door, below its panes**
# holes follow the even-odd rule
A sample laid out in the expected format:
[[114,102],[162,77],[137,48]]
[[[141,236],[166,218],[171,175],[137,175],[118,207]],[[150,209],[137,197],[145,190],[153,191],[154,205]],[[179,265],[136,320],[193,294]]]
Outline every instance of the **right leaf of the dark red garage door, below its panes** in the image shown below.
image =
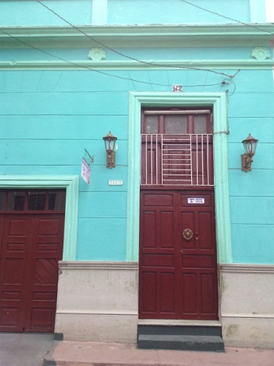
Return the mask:
[[62,258],[64,215],[33,217],[26,332],[54,332],[58,261]]

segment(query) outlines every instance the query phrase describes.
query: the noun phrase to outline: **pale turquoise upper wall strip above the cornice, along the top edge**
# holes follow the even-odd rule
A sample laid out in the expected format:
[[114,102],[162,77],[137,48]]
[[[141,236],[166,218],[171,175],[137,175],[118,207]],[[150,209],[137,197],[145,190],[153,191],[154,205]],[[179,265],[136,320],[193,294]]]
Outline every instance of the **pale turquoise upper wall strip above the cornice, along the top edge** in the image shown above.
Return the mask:
[[[93,16],[93,2],[101,12],[106,12],[108,24],[227,24],[229,19],[250,21],[250,0],[191,0],[198,9],[180,0],[44,0],[51,10],[71,24],[96,23]],[[261,0],[264,1],[264,0]],[[253,0],[254,2],[254,0]],[[264,4],[263,4],[264,5]],[[262,9],[262,6],[260,6]],[[36,1],[0,1],[1,26],[61,26],[66,22]]]

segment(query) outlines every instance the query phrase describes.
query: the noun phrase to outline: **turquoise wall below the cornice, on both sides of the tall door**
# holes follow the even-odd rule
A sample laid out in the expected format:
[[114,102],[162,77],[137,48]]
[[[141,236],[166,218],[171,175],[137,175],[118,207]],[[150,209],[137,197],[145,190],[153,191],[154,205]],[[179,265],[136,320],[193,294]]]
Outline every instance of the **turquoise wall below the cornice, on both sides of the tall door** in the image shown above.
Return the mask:
[[[233,74],[235,71],[222,70]],[[208,71],[110,71],[185,91],[228,89],[230,219],[233,262],[274,263],[274,105],[271,70],[242,70],[234,84]],[[192,86],[191,86],[192,85]],[[94,156],[91,185],[80,179],[76,259],[126,259],[128,91],[170,91],[91,71],[0,72],[0,174],[80,174]],[[118,137],[117,167],[105,167],[102,137]],[[240,170],[241,141],[259,139],[252,172]],[[111,187],[109,179],[122,179]]]

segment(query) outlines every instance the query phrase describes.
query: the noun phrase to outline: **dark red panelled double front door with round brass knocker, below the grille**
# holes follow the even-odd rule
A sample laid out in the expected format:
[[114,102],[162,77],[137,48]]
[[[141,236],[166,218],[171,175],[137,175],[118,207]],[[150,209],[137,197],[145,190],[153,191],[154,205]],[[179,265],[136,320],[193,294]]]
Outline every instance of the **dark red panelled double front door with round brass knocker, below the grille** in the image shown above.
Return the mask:
[[140,318],[218,319],[214,217],[213,192],[141,190]]

